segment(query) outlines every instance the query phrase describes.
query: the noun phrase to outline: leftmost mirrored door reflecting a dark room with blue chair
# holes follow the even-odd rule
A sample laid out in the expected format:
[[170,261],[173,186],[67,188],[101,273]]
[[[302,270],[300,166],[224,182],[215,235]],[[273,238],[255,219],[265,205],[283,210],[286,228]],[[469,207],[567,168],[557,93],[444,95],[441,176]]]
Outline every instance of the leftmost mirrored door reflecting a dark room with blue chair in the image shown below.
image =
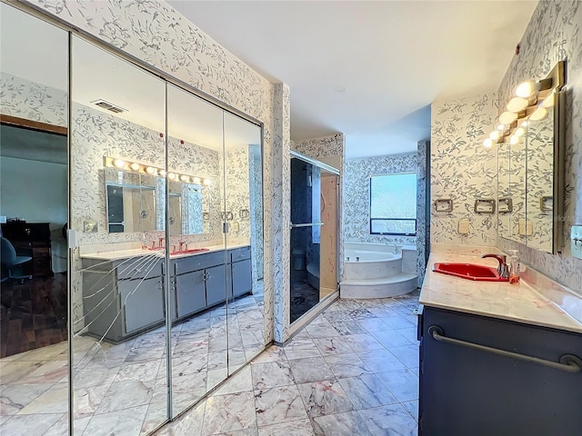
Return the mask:
[[68,431],[67,57],[65,31],[0,4],[3,435]]

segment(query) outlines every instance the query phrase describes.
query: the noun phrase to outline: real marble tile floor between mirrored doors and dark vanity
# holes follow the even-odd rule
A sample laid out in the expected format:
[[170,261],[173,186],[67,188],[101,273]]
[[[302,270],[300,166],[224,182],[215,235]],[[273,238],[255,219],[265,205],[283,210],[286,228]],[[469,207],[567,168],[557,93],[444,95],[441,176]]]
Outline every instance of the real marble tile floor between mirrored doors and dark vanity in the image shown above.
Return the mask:
[[417,304],[334,302],[156,436],[416,435]]

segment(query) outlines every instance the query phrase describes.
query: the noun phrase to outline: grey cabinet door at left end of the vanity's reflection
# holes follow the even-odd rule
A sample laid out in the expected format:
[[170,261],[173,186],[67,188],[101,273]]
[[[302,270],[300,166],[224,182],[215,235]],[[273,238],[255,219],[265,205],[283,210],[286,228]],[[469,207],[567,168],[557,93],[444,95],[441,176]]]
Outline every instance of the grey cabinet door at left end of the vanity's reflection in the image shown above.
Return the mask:
[[159,277],[144,281],[123,280],[117,286],[126,333],[164,321],[164,292]]

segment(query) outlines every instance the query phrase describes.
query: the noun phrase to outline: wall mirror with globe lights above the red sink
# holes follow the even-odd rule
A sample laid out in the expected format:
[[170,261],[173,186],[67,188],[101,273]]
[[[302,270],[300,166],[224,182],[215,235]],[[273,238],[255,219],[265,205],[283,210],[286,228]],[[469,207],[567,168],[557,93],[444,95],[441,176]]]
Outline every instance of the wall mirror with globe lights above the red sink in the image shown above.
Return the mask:
[[497,154],[499,236],[547,253],[561,250],[565,67],[559,62],[547,78],[517,88],[523,96],[507,110],[512,102],[526,107]]

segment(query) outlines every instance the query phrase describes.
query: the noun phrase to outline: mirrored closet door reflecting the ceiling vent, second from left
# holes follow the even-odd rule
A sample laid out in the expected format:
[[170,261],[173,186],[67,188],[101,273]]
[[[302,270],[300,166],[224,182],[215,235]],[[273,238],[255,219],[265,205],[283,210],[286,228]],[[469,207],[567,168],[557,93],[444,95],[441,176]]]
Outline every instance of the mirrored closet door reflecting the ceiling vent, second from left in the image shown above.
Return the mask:
[[[138,173],[104,171],[103,164],[105,154],[166,167],[160,134],[166,131],[166,84],[80,38],[73,38],[72,50],[75,425],[85,426],[85,434],[137,436],[167,415],[165,241],[163,232],[147,232],[156,249],[143,248],[159,205],[157,185]],[[124,112],[110,112],[104,100]],[[105,185],[114,195],[109,203]]]

